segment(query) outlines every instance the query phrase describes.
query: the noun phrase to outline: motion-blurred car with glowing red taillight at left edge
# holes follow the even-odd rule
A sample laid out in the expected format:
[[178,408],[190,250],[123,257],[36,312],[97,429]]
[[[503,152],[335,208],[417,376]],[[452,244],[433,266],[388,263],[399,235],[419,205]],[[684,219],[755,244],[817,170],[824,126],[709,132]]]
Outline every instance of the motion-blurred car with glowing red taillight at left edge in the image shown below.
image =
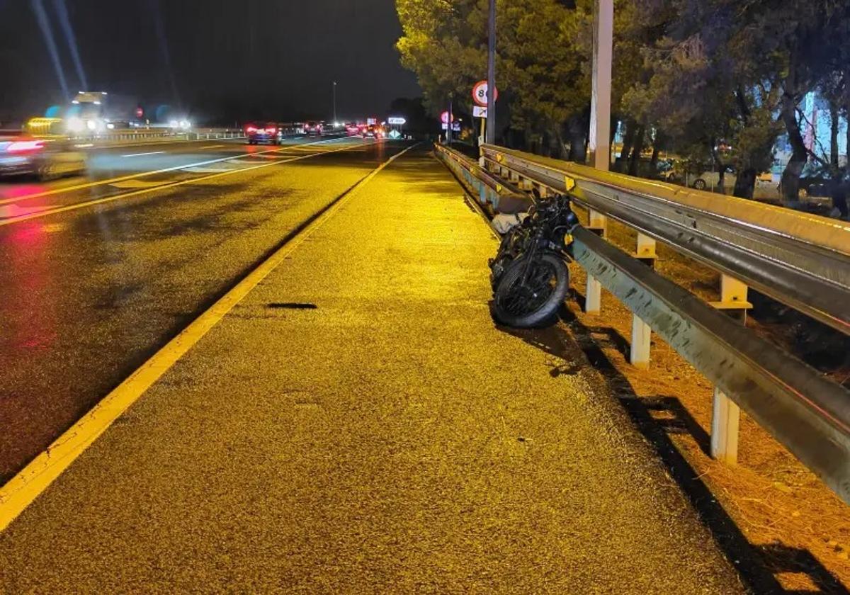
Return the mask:
[[45,181],[86,170],[86,154],[61,135],[0,131],[0,175],[34,175]]

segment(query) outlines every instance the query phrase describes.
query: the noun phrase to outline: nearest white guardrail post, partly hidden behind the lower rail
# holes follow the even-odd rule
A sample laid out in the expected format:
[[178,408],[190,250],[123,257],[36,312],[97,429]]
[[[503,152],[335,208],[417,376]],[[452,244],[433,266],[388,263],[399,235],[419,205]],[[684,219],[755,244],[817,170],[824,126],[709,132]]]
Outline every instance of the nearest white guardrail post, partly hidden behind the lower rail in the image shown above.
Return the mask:
[[[746,311],[752,308],[747,302],[747,286],[729,275],[720,275],[720,301],[711,302],[741,324],[746,322]],[[711,403],[711,457],[734,465],[738,462],[740,407],[720,388],[714,388]]]

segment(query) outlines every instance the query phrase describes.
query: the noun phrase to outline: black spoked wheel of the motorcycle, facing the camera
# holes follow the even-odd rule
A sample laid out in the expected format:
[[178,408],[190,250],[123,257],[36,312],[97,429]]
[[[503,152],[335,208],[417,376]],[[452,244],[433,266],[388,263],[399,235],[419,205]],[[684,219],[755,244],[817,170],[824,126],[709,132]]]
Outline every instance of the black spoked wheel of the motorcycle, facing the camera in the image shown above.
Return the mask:
[[494,299],[496,319],[515,328],[543,326],[553,320],[570,291],[570,269],[558,256],[536,256],[523,282],[525,266],[524,258],[507,266]]

